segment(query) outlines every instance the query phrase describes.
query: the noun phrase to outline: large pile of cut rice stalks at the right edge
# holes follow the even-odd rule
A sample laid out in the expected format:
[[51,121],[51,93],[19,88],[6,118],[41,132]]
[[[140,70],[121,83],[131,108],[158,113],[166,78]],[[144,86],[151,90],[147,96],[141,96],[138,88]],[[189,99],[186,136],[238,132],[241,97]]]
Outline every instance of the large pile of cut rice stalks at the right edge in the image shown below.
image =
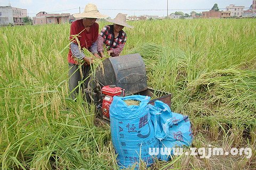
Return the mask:
[[193,116],[221,123],[255,125],[256,71],[215,70],[188,84],[187,109]]

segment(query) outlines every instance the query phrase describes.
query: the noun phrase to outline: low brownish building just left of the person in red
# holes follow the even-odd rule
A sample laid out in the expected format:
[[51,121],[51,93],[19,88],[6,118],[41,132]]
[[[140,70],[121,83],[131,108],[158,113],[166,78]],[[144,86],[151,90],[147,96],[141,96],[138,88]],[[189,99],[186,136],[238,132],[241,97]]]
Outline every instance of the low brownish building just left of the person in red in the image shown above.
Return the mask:
[[35,17],[33,17],[34,25],[43,24],[54,24],[54,23],[66,23],[69,22],[69,13],[63,14],[48,14],[46,12],[38,12]]

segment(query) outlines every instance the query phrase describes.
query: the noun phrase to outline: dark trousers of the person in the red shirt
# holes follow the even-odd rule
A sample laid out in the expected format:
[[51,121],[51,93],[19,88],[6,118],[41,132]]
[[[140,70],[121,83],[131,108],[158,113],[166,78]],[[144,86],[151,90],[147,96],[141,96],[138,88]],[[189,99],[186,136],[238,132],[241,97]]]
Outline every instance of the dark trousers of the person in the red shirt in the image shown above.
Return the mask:
[[[91,66],[90,65],[82,65],[81,69],[79,68],[79,65],[68,63],[68,87],[70,90],[70,97],[72,99],[75,99],[79,88],[78,83],[81,83],[82,91],[84,92],[84,89],[87,88],[87,84],[90,80],[90,73],[91,73]],[[73,91],[74,90],[74,91]],[[87,95],[86,95],[87,98]]]

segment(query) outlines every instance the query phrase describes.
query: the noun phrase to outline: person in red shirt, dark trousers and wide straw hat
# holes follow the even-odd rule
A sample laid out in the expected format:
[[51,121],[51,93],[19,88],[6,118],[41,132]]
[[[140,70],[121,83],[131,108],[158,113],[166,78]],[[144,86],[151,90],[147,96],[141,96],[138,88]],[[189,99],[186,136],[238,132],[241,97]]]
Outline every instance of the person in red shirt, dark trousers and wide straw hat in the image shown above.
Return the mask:
[[[78,82],[83,82],[83,88],[87,88],[89,81],[89,75],[91,71],[90,64],[93,58],[85,56],[82,52],[82,48],[86,48],[91,51],[91,47],[95,44],[99,36],[99,24],[95,21],[98,18],[105,18],[106,15],[100,14],[98,8],[94,4],[87,4],[84,12],[74,14],[75,18],[83,18],[74,21],[70,26],[70,49],[68,53],[68,65],[69,65],[69,90],[71,91],[70,97],[75,99],[78,93]],[[76,37],[76,38],[74,38]],[[100,57],[97,53],[95,57]],[[84,60],[85,64],[78,69],[78,61]],[[81,71],[82,70],[82,73]]]

